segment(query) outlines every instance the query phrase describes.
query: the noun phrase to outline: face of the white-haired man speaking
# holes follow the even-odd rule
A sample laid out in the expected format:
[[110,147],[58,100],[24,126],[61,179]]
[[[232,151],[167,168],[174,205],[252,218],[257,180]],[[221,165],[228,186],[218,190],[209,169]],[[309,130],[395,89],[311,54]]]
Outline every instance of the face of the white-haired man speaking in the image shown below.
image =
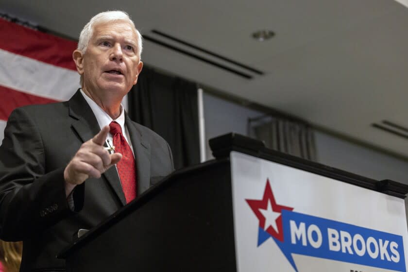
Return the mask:
[[143,63],[137,56],[137,34],[126,21],[100,23],[94,26],[93,35],[78,68],[84,77],[84,88],[96,96],[125,96]]

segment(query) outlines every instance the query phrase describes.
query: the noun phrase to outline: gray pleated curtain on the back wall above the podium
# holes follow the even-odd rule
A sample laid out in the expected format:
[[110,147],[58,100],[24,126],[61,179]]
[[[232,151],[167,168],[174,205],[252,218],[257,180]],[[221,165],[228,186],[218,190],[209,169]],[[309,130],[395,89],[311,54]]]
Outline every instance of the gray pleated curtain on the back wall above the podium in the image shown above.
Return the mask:
[[267,148],[316,161],[314,133],[308,124],[277,117],[249,119],[250,136]]

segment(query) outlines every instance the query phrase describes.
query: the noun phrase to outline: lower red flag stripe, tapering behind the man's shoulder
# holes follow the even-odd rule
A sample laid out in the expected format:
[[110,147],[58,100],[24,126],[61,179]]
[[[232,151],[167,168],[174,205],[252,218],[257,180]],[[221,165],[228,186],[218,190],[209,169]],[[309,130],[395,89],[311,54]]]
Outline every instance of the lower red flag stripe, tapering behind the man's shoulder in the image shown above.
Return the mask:
[[57,102],[49,98],[44,98],[28,93],[23,93],[0,85],[0,119],[7,120],[11,112],[18,107],[30,104],[47,104]]

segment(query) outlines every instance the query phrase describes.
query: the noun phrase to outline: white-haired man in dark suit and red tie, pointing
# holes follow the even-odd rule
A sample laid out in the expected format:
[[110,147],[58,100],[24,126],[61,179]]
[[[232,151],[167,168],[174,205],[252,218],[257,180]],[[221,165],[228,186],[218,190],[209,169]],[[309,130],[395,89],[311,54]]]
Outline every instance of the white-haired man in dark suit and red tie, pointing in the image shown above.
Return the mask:
[[73,52],[82,89],[68,102],[9,117],[0,147],[0,238],[23,240],[20,271],[63,271],[55,255],[78,229],[94,227],[173,170],[167,142],[120,105],[143,67],[141,49],[127,14],[96,15]]

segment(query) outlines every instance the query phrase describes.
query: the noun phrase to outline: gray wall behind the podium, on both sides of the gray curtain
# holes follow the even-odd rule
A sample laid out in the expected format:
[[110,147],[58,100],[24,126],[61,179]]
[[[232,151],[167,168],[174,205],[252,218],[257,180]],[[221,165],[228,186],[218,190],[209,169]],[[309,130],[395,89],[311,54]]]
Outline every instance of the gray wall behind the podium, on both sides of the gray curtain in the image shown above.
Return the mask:
[[[237,132],[247,135],[247,120],[262,115],[233,102],[204,93],[206,158],[213,158],[208,146],[212,137]],[[408,184],[408,163],[390,155],[315,133],[318,162],[376,180],[391,179]]]

